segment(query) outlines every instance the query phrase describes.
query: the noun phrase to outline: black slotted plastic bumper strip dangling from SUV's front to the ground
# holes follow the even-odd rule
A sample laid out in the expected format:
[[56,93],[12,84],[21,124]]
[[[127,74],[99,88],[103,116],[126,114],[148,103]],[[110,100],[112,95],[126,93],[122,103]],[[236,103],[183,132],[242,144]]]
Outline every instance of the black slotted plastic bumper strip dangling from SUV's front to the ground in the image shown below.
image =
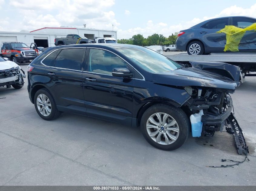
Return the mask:
[[246,145],[244,135],[242,133],[242,129],[238,125],[238,122],[235,119],[233,113],[231,113],[228,116],[228,119],[226,119],[226,123],[227,123],[227,126],[226,126],[227,132],[234,135],[238,154],[244,153],[245,155],[247,155],[249,153],[248,146]]

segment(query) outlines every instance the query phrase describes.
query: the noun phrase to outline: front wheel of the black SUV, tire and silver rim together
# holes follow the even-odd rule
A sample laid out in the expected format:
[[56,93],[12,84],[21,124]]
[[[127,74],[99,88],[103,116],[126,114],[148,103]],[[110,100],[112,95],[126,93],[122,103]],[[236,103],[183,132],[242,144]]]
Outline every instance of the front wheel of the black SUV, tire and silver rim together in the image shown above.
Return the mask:
[[165,104],[149,107],[141,118],[141,131],[149,144],[161,150],[175,150],[188,138],[185,112]]

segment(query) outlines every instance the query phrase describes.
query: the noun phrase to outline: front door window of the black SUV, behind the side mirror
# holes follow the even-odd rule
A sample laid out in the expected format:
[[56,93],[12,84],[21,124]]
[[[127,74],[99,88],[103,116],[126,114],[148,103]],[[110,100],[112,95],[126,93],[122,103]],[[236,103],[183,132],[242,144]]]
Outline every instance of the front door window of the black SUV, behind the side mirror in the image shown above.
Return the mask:
[[106,50],[90,49],[89,72],[112,75],[113,68],[126,68],[126,62]]

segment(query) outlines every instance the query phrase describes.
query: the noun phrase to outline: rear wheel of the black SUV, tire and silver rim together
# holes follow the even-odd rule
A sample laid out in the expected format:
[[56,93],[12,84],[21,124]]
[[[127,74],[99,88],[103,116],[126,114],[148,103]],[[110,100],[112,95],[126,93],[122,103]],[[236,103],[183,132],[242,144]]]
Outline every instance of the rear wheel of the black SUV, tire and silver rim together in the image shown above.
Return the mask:
[[60,115],[52,94],[45,88],[39,89],[35,93],[34,105],[36,112],[42,119],[52,120]]

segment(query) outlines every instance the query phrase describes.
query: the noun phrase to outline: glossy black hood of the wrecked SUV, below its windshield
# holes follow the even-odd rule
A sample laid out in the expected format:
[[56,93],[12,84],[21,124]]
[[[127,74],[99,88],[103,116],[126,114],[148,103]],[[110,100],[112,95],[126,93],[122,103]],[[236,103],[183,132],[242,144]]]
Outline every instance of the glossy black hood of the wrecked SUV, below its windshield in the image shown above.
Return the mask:
[[194,67],[155,73],[152,77],[154,83],[173,86],[201,86],[234,90],[240,85],[240,82]]

